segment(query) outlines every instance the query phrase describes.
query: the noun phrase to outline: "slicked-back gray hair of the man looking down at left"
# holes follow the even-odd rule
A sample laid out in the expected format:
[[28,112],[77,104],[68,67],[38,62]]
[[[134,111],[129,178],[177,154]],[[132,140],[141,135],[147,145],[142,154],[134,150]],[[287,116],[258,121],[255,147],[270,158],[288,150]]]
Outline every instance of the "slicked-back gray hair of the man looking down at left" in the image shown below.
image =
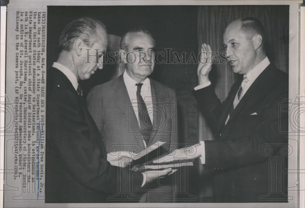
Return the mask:
[[73,44],[77,39],[81,39],[88,47],[92,47],[100,39],[96,30],[98,25],[106,30],[105,25],[97,19],[83,17],[73,20],[63,29],[59,37],[61,49],[72,50]]

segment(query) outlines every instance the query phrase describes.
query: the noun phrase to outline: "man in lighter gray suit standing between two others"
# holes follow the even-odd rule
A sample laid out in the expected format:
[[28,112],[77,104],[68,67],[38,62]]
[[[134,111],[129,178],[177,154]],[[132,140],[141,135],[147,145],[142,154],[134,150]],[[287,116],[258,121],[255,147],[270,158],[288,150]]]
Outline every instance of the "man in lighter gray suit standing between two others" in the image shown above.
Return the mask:
[[[140,152],[158,141],[166,142],[163,147],[177,144],[176,94],[148,78],[154,68],[154,46],[146,30],[125,33],[120,43],[123,75],[95,86],[87,96],[88,110],[109,154],[115,147]],[[154,191],[141,202],[163,202],[172,192]]]

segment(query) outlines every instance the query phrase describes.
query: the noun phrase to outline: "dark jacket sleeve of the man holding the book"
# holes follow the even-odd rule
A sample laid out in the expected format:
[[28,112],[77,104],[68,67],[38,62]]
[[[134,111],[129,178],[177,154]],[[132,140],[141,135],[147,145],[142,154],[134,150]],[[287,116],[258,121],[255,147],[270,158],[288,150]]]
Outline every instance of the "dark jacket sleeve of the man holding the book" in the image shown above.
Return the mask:
[[[47,118],[50,127],[50,144],[70,175],[84,187],[93,191],[116,194],[118,188],[118,167],[111,166],[101,146],[99,135],[93,135],[81,105],[72,92],[61,89],[56,96],[50,96]],[[96,127],[94,127],[96,128]],[[96,130],[96,133],[98,131]],[[120,171],[121,172],[121,171]],[[141,186],[142,174],[135,175],[135,186]]]

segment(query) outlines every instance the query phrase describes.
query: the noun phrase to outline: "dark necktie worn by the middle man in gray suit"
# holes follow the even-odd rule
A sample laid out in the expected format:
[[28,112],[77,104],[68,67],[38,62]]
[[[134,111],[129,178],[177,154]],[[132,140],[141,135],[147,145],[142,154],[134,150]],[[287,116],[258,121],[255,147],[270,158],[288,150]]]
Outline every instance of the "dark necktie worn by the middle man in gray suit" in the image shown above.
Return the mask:
[[141,96],[141,87],[143,84],[137,83],[135,85],[137,86],[138,119],[140,123],[140,130],[142,132],[144,140],[146,140],[146,144],[148,144],[150,137],[150,133],[148,132],[152,131],[152,122],[150,120],[145,102]]

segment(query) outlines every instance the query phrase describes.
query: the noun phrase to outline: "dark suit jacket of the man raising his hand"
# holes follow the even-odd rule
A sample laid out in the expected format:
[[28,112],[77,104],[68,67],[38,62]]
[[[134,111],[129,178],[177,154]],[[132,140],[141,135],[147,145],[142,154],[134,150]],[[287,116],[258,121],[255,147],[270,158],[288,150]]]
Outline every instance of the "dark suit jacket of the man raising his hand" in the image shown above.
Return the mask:
[[[270,157],[285,158],[279,154],[279,149],[285,147],[287,134],[280,133],[280,129],[287,131],[288,113],[280,111],[279,107],[283,99],[288,98],[288,75],[270,64],[250,86],[225,125],[240,84],[238,81],[232,86],[223,103],[212,85],[193,91],[217,138],[205,141],[204,167],[216,175],[215,202],[269,202],[259,198],[269,194],[269,178],[274,176],[269,174],[264,147],[272,148]],[[261,146],[263,144],[267,145]],[[287,166],[286,160],[284,165]],[[271,183],[272,188],[285,189],[286,175],[282,175],[281,180]],[[272,197],[287,200],[283,191]]]

